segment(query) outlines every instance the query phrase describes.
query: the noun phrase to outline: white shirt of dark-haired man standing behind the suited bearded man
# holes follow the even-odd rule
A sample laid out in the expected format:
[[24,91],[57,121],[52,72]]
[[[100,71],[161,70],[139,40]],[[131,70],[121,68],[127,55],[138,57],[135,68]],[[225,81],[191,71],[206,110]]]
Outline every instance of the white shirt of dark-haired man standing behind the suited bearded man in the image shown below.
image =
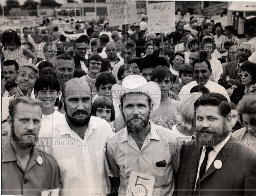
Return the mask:
[[[194,80],[192,82],[189,82],[188,84],[186,84],[185,86],[182,87],[182,89],[180,90],[178,96],[179,99],[181,101],[184,100],[184,98],[186,97],[186,95],[190,94],[190,90],[194,87],[197,86],[198,83]],[[216,82],[210,81],[208,80],[208,82],[204,85],[211,93],[220,93],[222,95],[224,95],[228,101],[230,102],[229,96],[228,96],[228,92],[226,91],[226,89],[219,85]]]

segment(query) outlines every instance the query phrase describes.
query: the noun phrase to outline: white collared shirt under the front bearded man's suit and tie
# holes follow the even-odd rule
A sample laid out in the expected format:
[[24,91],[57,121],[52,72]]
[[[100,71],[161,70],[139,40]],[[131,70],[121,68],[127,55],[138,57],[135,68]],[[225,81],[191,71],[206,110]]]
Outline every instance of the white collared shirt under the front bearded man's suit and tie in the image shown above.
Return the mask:
[[[214,150],[210,151],[209,154],[208,154],[208,160],[207,160],[207,163],[206,163],[205,171],[210,167],[210,165],[212,164],[212,162],[214,161],[214,159],[216,158],[216,156],[218,155],[220,150],[223,148],[223,146],[225,146],[225,144],[229,140],[229,138],[230,138],[230,134],[223,141],[221,141],[219,144],[217,144],[216,146],[212,146],[214,148]],[[200,167],[201,167],[202,162],[205,158],[205,151],[206,151],[205,146],[203,146],[202,153],[201,153],[201,156],[200,156],[200,159],[199,159],[199,166],[198,166],[198,170],[197,170],[196,183],[197,183],[197,180],[199,178]],[[196,188],[196,184],[195,184],[195,188]]]

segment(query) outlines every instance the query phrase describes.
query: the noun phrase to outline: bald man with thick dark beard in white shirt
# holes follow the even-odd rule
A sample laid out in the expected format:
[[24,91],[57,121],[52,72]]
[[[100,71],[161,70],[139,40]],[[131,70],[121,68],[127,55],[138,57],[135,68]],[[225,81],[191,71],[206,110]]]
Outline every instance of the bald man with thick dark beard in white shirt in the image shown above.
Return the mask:
[[53,147],[44,146],[60,168],[60,195],[93,195],[103,192],[108,185],[104,170],[103,149],[106,139],[113,134],[104,119],[91,116],[91,88],[87,81],[74,78],[62,87],[66,114],[59,124],[41,137],[53,138]]

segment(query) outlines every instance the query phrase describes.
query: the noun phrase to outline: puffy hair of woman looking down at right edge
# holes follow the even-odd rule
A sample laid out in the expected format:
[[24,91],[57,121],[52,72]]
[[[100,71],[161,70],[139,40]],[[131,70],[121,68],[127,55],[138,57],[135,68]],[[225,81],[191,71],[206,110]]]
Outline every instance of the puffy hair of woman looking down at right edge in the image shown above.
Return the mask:
[[243,123],[243,114],[250,116],[250,123],[256,122],[256,94],[245,95],[237,104],[237,113],[240,121]]

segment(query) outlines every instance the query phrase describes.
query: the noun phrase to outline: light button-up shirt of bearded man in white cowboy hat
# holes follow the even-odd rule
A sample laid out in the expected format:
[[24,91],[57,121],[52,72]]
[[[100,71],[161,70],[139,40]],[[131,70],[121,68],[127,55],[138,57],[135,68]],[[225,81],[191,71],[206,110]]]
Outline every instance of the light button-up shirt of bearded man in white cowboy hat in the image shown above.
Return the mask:
[[[120,178],[120,187],[128,185],[131,171],[146,173],[155,177],[152,194],[172,195],[174,191],[173,172],[179,166],[181,145],[169,129],[150,122],[150,132],[141,150],[138,148],[127,127],[110,136],[107,141],[106,156],[110,176]],[[165,161],[165,167],[157,167],[156,162]]]

